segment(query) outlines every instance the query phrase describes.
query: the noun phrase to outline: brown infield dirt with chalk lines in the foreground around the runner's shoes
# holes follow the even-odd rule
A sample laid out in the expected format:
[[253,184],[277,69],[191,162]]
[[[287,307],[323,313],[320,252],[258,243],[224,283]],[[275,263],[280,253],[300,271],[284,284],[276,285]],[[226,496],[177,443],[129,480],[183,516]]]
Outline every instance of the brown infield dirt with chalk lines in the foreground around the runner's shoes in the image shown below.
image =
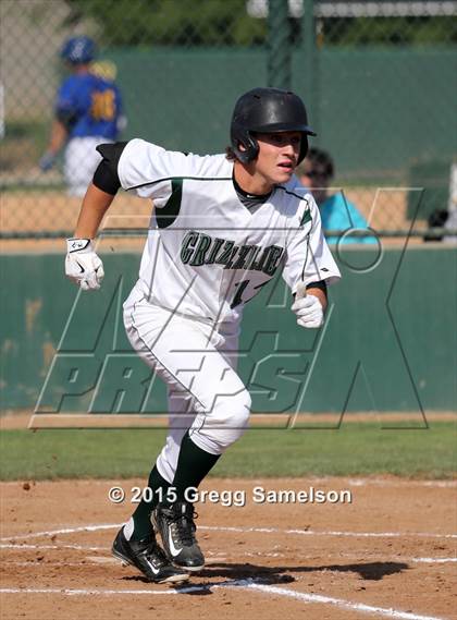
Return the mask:
[[[207,567],[177,588],[148,584],[110,555],[143,484],[3,483],[2,619],[457,617],[454,482],[209,479],[202,489],[219,503],[196,504]],[[108,498],[114,485],[123,503]],[[351,502],[257,501],[268,490],[309,499],[311,488],[314,499],[348,490]]]

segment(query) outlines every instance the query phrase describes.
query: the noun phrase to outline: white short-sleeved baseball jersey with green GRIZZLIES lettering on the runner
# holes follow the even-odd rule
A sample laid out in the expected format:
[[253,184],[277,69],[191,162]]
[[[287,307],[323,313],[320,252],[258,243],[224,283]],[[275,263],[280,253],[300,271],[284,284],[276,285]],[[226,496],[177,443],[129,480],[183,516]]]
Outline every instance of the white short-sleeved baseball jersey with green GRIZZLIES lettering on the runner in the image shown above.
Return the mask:
[[225,155],[173,153],[133,139],[119,160],[124,190],[152,198],[138,287],[151,303],[214,323],[236,321],[244,304],[282,270],[293,292],[337,280],[319,209],[292,179],[248,209]]

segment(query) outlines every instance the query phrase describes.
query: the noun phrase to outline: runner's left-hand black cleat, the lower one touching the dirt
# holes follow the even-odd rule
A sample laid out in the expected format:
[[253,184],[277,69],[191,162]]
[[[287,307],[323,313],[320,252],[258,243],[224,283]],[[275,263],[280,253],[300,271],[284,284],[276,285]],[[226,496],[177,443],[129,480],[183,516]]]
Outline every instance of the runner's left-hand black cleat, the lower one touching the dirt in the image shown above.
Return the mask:
[[112,554],[124,564],[136,567],[153,583],[180,583],[187,581],[189,576],[170,563],[153,534],[143,540],[127,540],[124,527],[121,527],[114,539]]

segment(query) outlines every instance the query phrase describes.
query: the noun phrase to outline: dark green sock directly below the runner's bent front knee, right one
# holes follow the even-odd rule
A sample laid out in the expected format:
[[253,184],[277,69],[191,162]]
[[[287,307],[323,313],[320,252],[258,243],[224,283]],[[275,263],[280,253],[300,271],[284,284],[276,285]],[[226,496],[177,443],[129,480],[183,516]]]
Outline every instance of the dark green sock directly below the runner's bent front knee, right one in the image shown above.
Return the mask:
[[189,431],[184,435],[177,458],[176,472],[173,487],[176,489],[177,501],[185,499],[187,488],[198,488],[201,481],[212,470],[221,454],[206,452],[189,437]]

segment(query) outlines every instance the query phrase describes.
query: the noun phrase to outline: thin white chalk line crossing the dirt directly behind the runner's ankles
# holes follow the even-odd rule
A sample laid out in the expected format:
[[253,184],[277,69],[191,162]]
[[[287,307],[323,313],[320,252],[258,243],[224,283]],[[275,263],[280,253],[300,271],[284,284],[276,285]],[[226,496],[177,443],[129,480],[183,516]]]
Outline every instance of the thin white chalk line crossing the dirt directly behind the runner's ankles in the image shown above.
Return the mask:
[[[16,534],[12,536],[2,536],[0,542],[20,538],[28,540],[30,538],[39,538],[40,536],[58,536],[59,534],[74,534],[77,532],[97,532],[99,530],[116,530],[123,523],[104,523],[100,525],[84,525],[78,527],[64,527],[62,530],[50,530],[45,532],[35,532],[29,534]],[[200,525],[199,530],[209,532],[240,532],[240,533],[260,533],[260,534],[297,534],[301,536],[349,536],[356,538],[457,538],[457,534],[433,534],[429,532],[338,532],[338,531],[317,531],[317,530],[281,530],[280,527],[235,527],[235,526],[218,526],[218,525]]]

